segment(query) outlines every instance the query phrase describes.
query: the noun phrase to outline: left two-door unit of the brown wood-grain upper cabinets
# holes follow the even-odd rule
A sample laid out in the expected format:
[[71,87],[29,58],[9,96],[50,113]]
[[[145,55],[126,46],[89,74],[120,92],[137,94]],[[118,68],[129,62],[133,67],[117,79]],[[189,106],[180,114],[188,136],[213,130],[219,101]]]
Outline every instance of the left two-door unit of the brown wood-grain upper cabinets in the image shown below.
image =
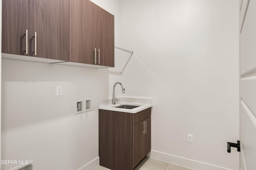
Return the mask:
[[69,0],[2,0],[2,53],[68,61]]

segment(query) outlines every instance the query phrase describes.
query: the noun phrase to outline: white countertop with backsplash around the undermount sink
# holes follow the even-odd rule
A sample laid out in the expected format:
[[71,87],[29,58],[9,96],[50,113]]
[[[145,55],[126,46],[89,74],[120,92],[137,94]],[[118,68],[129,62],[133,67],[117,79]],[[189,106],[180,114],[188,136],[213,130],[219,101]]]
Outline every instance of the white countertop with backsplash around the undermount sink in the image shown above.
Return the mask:
[[[106,99],[99,102],[99,109],[102,110],[111,110],[111,111],[120,111],[120,112],[126,112],[126,113],[137,113],[139,111],[148,109],[153,106],[153,99],[148,98],[126,98],[126,97],[119,97],[117,98],[118,102],[117,104],[112,104],[112,99]],[[117,106],[121,105],[133,105],[133,106],[139,106],[135,107],[133,109],[122,109],[122,108],[116,108]]]

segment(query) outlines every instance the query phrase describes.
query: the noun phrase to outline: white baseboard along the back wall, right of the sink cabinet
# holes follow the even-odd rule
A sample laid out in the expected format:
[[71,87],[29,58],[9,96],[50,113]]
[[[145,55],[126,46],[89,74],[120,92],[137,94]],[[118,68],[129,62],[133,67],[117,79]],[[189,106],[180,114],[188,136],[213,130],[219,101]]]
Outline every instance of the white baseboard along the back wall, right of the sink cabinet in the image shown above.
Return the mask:
[[186,168],[190,168],[194,170],[231,170],[228,168],[207,164],[204,162],[199,162],[196,160],[191,160],[188,158],[183,158],[183,157],[175,156],[172,154],[158,152],[156,150],[151,150],[151,152],[148,154],[148,157],[162,160],[164,162],[169,162],[171,164],[184,166]]

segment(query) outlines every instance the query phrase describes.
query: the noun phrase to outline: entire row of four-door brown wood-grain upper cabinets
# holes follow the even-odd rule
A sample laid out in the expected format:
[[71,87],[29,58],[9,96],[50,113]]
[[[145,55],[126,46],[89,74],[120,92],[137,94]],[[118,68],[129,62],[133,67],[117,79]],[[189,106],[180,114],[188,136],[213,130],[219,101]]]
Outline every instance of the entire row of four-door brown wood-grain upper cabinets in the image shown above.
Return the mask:
[[114,16],[90,0],[2,0],[2,53],[24,55],[2,56],[7,59],[114,67]]

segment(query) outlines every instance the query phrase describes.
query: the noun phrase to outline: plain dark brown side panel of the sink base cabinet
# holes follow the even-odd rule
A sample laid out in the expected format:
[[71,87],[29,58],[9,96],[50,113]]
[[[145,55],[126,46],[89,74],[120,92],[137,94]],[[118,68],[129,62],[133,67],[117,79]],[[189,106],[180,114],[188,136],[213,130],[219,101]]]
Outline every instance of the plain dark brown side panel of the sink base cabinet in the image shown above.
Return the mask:
[[133,170],[132,114],[99,109],[100,165],[111,170]]

